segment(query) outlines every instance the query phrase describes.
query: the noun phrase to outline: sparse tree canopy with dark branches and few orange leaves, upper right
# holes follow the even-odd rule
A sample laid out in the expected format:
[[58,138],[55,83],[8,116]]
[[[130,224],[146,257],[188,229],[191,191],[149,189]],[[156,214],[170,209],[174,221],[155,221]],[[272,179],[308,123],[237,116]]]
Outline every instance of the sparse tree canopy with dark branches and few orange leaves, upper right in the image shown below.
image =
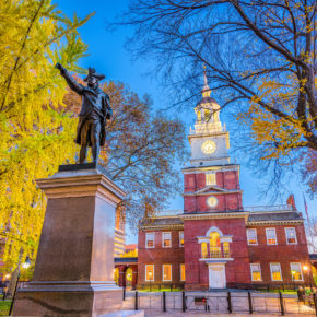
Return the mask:
[[262,158],[257,167],[275,181],[308,149],[316,157],[315,14],[314,0],[130,0],[121,23],[134,25],[136,54],[154,56],[187,104],[206,64],[213,94],[236,109]]

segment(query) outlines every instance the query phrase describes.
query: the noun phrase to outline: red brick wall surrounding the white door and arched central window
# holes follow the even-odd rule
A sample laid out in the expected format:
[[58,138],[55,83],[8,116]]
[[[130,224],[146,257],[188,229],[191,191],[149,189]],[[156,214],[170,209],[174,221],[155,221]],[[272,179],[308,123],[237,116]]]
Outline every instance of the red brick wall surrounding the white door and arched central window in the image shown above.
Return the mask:
[[233,261],[225,266],[227,283],[250,283],[250,269],[248,260],[247,237],[244,219],[219,219],[219,220],[185,220],[185,267],[186,289],[201,290],[209,287],[208,266],[199,261],[201,247],[197,236],[204,236],[207,231],[215,226],[224,235],[233,235],[231,243],[231,256]]

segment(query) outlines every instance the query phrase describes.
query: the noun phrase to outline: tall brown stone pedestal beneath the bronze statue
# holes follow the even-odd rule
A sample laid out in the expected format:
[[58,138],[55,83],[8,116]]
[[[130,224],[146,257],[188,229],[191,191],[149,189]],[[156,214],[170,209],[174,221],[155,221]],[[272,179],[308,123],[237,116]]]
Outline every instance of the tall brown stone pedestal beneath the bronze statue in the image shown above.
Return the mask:
[[14,316],[101,316],[121,309],[114,283],[116,207],[126,193],[94,164],[62,165],[37,184],[48,199],[33,282]]

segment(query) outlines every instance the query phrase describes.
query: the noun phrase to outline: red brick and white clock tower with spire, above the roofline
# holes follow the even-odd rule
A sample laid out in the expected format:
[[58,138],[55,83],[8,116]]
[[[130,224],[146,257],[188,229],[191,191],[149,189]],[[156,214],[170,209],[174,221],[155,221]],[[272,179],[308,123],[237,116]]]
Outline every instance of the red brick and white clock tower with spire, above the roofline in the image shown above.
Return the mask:
[[220,105],[210,96],[206,70],[203,79],[202,98],[188,136],[190,165],[183,169],[185,213],[239,211],[239,165],[230,163],[228,132],[220,120]]

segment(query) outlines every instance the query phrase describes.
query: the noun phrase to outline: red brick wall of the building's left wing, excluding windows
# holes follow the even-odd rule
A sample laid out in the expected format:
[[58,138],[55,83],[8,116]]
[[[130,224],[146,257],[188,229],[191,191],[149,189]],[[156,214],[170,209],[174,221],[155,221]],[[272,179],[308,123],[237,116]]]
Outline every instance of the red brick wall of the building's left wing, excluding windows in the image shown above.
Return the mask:
[[[145,282],[145,265],[154,265],[154,282],[152,282],[152,284],[183,283],[180,281],[180,263],[185,263],[185,261],[184,247],[179,247],[179,231],[151,231],[155,232],[154,248],[145,248],[146,232],[139,231],[138,285],[149,284],[149,282]],[[162,232],[172,233],[171,248],[162,247]],[[172,265],[172,282],[163,281],[163,265]]]

